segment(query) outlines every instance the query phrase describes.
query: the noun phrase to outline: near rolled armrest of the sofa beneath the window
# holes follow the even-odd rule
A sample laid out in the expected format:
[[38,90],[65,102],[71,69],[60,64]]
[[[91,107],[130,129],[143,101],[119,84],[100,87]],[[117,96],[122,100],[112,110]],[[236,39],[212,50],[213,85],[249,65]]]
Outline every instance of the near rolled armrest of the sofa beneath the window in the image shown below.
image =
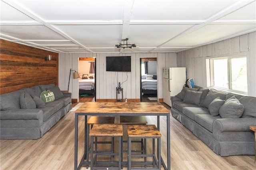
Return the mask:
[[213,133],[250,131],[250,126],[256,125],[256,118],[224,118],[213,122]]

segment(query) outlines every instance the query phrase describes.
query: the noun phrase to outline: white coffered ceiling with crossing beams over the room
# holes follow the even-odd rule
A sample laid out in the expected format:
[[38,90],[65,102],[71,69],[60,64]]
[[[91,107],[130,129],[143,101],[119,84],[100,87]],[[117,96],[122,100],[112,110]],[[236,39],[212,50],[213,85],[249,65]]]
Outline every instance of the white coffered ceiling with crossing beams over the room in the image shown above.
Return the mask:
[[[178,52],[256,31],[255,0],[1,0],[0,38],[64,53]],[[114,48],[122,39],[139,47]]]

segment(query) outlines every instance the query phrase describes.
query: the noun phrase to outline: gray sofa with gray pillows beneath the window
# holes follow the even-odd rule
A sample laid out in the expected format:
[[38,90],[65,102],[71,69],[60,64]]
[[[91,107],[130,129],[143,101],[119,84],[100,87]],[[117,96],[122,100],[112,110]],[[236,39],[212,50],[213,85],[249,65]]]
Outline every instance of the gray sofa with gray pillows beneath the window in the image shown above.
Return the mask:
[[256,97],[184,87],[171,97],[172,116],[216,154],[255,155]]

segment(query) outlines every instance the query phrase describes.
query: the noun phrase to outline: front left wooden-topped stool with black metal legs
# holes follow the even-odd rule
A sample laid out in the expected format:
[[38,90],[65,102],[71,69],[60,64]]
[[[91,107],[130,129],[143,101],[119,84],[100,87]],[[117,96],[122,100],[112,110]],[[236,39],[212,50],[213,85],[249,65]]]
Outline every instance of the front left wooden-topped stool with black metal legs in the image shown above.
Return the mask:
[[[94,142],[91,142],[91,170],[93,169],[119,169],[121,170],[121,162],[123,159],[122,156],[122,138],[123,138],[123,125],[121,124],[95,124],[92,129],[90,130],[90,136],[91,136],[91,141],[93,141],[93,138],[95,138],[95,145],[94,145],[94,152],[93,152],[93,144]],[[106,137],[106,136],[111,136],[111,137],[117,137],[118,136],[118,153],[112,153],[112,149],[109,153],[101,153],[98,152],[97,150],[97,137]],[[94,154],[94,155],[93,155]],[[97,162],[97,156],[98,155],[118,155],[118,162],[114,162],[114,160],[111,158],[111,161],[106,161],[106,162]],[[106,165],[108,167],[102,167],[102,166],[97,166],[98,164],[100,165]],[[114,167],[114,165],[118,164],[118,167]],[[94,166],[95,165],[95,166]]]

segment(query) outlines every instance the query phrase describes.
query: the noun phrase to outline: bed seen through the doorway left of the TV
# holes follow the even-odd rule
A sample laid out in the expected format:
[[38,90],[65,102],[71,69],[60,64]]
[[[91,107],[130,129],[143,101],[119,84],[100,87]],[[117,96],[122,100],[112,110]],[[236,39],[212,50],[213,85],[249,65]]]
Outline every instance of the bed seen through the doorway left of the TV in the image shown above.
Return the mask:
[[79,78],[79,95],[93,94],[94,95],[95,79]]

